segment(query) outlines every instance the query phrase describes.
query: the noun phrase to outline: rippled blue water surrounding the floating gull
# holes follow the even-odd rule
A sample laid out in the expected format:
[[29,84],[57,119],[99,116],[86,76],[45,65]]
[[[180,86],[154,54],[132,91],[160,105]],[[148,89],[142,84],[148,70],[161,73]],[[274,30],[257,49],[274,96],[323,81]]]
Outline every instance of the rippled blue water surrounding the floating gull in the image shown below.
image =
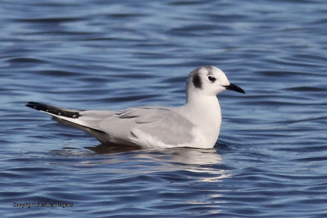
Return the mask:
[[[10,0],[0,26],[2,217],[327,217],[325,1]],[[202,65],[247,92],[219,95],[209,150],[109,148],[24,106],[178,106]]]

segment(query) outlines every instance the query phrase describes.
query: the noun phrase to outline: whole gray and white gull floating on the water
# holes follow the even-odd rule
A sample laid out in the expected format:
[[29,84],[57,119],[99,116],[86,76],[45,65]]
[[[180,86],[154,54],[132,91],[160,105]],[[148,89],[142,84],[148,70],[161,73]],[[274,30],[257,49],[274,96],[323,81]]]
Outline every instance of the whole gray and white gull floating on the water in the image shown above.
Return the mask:
[[144,106],[119,111],[74,110],[36,102],[27,107],[50,114],[66,125],[86,131],[102,144],[141,148],[213,148],[221,126],[217,94],[224,90],[245,93],[214,66],[193,70],[181,107]]

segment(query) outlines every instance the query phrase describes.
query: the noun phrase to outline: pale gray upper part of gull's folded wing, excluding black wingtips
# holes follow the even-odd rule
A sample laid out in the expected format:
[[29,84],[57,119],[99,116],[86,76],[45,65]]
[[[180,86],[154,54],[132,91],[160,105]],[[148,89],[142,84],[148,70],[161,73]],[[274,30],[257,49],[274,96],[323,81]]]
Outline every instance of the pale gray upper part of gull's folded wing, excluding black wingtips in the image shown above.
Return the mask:
[[171,108],[140,107],[118,111],[100,122],[99,127],[118,139],[142,143],[142,137],[150,137],[176,145],[193,141],[195,125]]

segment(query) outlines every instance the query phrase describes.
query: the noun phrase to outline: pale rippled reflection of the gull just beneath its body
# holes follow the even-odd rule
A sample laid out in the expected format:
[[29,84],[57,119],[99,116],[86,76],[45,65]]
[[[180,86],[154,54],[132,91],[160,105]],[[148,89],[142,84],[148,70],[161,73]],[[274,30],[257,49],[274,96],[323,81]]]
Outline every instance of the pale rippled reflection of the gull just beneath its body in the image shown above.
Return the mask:
[[[129,176],[184,171],[183,174],[188,174],[188,178],[196,178],[202,182],[217,182],[227,177],[226,166],[223,165],[221,156],[214,148],[181,147],[141,150],[131,146],[104,144],[85,148],[88,150],[72,146],[63,150],[52,150],[52,152],[55,155],[64,155],[69,158],[81,158],[79,163],[66,162],[67,165],[110,165],[111,167],[108,167],[106,172],[121,173],[121,170],[124,169],[125,173],[129,172]],[[122,155],[126,158],[122,158]]]

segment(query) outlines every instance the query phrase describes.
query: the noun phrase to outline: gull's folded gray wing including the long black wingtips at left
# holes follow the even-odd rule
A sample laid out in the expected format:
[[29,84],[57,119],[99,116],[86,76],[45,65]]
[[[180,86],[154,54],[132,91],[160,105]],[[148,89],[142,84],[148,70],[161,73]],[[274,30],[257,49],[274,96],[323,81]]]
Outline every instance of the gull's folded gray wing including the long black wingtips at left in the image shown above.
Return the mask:
[[[193,141],[195,126],[173,108],[140,107],[121,111],[72,110],[28,102],[27,107],[40,110],[64,123],[80,128],[101,143],[139,145],[186,144]],[[59,119],[60,120],[59,120]],[[148,142],[152,140],[152,142]]]

